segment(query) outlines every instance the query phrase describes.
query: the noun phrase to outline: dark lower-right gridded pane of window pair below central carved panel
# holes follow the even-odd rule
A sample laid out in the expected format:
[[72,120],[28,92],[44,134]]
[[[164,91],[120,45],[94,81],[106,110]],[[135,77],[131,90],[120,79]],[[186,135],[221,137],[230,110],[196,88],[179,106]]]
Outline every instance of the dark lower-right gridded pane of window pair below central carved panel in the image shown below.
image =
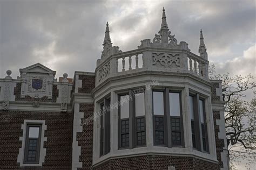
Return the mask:
[[181,145],[180,118],[171,117],[172,144]]

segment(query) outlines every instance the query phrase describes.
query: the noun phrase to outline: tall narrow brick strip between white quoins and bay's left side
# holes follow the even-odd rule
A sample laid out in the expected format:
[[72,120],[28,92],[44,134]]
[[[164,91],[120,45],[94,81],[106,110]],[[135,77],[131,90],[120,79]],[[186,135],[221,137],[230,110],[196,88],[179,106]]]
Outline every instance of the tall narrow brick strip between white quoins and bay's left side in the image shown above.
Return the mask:
[[[79,111],[84,112],[82,122],[93,116],[93,104],[80,104]],[[78,146],[81,146],[80,162],[83,162],[83,168],[90,169],[92,166],[92,147],[93,147],[93,121],[83,125],[83,132],[77,133]]]

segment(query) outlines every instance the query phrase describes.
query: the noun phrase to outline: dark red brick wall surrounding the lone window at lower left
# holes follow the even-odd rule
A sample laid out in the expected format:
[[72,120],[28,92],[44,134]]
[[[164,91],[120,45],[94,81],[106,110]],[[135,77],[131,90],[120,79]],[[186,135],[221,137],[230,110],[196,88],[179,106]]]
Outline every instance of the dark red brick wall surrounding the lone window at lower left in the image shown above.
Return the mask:
[[[47,130],[43,167],[19,167],[17,156],[24,119],[45,120]],[[72,161],[73,115],[64,112],[0,111],[0,169],[70,169]]]

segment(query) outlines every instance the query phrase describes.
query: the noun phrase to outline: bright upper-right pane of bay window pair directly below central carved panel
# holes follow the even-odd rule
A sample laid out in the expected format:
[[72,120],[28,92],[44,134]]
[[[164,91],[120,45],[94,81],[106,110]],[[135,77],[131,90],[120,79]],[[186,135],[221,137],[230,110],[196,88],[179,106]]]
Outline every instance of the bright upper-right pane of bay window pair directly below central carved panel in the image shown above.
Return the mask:
[[180,116],[179,93],[169,93],[170,116]]

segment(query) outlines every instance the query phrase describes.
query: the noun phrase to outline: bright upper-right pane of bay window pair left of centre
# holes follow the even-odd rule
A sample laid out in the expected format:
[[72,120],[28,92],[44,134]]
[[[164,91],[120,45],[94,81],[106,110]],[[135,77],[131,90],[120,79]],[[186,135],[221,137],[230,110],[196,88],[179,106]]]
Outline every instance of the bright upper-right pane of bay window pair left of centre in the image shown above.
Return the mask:
[[135,116],[145,115],[145,96],[144,93],[135,94]]

